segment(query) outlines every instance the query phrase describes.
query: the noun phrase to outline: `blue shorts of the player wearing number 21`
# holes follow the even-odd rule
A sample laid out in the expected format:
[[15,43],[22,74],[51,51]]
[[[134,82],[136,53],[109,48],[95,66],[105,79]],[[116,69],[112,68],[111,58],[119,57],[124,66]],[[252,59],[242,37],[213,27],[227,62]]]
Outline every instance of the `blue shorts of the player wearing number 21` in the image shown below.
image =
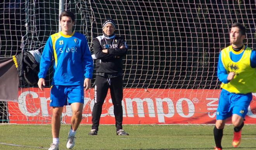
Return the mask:
[[83,85],[52,85],[50,94],[51,107],[63,107],[73,102],[84,103]]

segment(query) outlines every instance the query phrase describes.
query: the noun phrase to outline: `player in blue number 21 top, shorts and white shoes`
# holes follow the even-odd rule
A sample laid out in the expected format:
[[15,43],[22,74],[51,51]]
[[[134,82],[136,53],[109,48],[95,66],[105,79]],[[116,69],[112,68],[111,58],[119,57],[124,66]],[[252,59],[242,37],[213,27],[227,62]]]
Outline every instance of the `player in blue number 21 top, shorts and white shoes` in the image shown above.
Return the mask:
[[93,60],[86,37],[73,32],[74,14],[62,12],[60,22],[61,32],[51,35],[45,44],[38,73],[38,87],[43,90],[47,70],[54,59],[50,94],[53,143],[49,150],[59,149],[60,118],[63,106],[68,104],[71,104],[73,114],[66,146],[74,147],[74,136],[82,119],[84,90],[90,88],[93,72]]

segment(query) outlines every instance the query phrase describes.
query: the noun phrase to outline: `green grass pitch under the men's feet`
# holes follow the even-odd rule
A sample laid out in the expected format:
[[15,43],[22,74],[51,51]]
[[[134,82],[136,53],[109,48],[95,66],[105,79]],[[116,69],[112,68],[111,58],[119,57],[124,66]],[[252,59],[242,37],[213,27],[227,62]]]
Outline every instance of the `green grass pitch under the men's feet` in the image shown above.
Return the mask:
[[[50,125],[0,125],[0,150],[48,149],[52,142]],[[66,150],[70,126],[62,124],[60,150]],[[172,149],[209,150],[214,147],[213,125],[124,125],[129,136],[116,136],[114,125],[100,125],[97,136],[89,136],[90,125],[80,125],[74,150],[87,149]],[[232,148],[233,127],[227,125],[222,140],[223,149],[255,150],[256,125],[246,124],[242,143]]]

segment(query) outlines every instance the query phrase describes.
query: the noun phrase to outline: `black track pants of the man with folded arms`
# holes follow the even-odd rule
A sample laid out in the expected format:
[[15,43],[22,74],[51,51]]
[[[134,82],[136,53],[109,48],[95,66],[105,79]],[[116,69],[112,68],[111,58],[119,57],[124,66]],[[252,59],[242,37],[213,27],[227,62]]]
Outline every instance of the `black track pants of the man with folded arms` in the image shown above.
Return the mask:
[[114,105],[114,115],[116,119],[116,131],[122,129],[123,122],[123,77],[106,78],[97,75],[94,89],[94,106],[92,110],[92,129],[99,130],[100,115],[102,105],[110,89],[112,103]]

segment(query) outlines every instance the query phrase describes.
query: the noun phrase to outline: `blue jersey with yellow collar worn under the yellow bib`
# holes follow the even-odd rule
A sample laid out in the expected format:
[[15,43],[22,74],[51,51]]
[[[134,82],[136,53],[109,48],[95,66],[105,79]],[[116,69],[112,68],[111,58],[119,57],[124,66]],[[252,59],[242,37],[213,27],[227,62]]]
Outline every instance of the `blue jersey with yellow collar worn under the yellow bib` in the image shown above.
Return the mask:
[[[239,61],[243,54],[244,54],[244,49],[246,49],[247,46],[244,46],[242,48],[242,50],[240,50],[239,52],[235,52],[230,51],[229,55],[230,55],[230,59],[234,62]],[[256,51],[252,51],[251,52],[251,56],[250,56],[250,65],[251,68],[256,68]],[[219,61],[218,61],[218,72],[217,72],[218,78],[219,80],[224,83],[227,84],[229,81],[227,80],[228,77],[228,73],[227,70],[225,69],[225,67],[223,66],[223,62],[221,61],[221,53],[219,55]]]

